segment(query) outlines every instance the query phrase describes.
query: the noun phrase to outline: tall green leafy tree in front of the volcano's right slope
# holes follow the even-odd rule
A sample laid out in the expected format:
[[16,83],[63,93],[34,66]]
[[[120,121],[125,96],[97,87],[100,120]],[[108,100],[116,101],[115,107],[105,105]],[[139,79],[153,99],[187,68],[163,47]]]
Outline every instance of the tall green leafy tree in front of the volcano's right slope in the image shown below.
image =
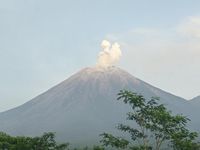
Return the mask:
[[[182,115],[173,115],[159,103],[159,98],[152,97],[146,100],[140,94],[123,90],[118,94],[118,100],[131,106],[132,112],[127,113],[127,120],[135,121],[138,128],[124,124],[119,124],[117,128],[129,133],[134,143],[103,133],[100,136],[102,136],[101,143],[104,146],[118,149],[160,150],[163,143],[168,143],[176,150],[200,149],[199,144],[195,142],[197,133],[190,132],[186,128],[190,120]],[[150,141],[154,144],[150,144]],[[136,146],[131,146],[131,144]]]

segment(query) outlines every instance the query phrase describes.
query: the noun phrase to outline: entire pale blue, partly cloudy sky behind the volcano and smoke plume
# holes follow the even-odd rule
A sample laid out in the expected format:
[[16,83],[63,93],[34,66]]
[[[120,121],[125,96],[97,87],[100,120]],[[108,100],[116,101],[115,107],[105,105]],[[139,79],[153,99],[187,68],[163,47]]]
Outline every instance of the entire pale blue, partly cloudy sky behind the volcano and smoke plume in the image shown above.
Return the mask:
[[199,0],[0,0],[0,111],[94,66],[102,40],[119,67],[185,99],[200,95]]

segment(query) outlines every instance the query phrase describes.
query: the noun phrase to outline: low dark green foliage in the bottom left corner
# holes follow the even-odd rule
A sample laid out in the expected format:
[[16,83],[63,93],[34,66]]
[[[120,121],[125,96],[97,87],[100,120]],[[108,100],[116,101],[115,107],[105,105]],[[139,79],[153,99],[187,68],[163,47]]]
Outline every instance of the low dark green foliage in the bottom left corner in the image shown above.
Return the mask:
[[65,150],[69,144],[57,144],[54,133],[44,133],[41,137],[12,137],[0,133],[0,150]]

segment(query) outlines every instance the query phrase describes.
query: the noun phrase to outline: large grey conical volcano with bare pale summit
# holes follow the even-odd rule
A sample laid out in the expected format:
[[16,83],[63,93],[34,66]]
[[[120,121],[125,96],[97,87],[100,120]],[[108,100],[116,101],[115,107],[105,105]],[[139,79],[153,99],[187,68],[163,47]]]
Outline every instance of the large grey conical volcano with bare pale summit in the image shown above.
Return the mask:
[[98,141],[99,134],[115,132],[125,121],[129,107],[116,101],[128,89],[146,98],[157,96],[175,113],[192,117],[189,101],[133,77],[117,67],[85,68],[67,80],[14,109],[0,113],[0,130],[12,135],[56,132],[58,140],[70,143]]

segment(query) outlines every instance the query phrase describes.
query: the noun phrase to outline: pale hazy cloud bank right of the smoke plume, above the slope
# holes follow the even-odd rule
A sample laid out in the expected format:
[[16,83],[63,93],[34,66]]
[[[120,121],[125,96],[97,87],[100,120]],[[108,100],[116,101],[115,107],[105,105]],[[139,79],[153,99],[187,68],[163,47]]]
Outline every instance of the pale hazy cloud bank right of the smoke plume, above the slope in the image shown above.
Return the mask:
[[200,95],[200,17],[187,17],[170,28],[138,27],[109,37],[121,43],[122,68],[175,95]]

